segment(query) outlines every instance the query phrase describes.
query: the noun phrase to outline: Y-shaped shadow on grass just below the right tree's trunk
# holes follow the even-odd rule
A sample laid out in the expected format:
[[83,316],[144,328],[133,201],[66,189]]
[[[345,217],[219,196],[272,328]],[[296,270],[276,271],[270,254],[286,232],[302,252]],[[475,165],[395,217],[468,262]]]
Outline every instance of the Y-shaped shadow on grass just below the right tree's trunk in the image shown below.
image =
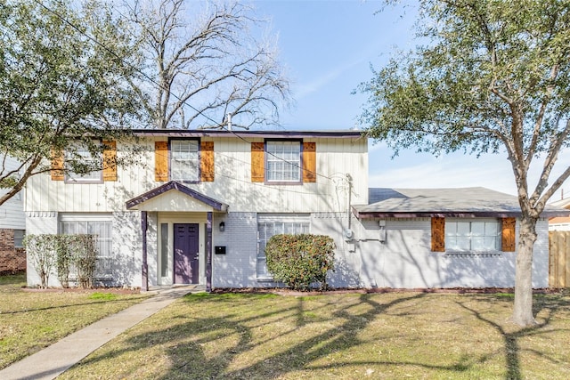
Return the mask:
[[[509,297],[509,299],[501,299],[499,297],[485,297],[485,301],[491,303],[511,303],[512,297]],[[570,307],[570,300],[561,298],[553,300],[545,295],[535,295],[533,298],[533,315],[536,316],[539,311],[543,311],[546,316],[542,317],[542,321],[539,321],[535,326],[517,328],[512,332],[509,332],[505,327],[501,326],[499,323],[493,321],[492,319],[486,318],[482,312],[468,307],[466,303],[457,302],[457,304],[464,310],[473,314],[476,319],[484,322],[489,327],[493,327],[493,329],[502,336],[505,361],[507,365],[505,378],[509,380],[519,380],[523,378],[520,366],[519,340],[526,336],[537,336],[540,334],[551,333],[551,330],[545,331],[543,327],[550,325],[550,321],[558,311],[567,310],[568,307]]]

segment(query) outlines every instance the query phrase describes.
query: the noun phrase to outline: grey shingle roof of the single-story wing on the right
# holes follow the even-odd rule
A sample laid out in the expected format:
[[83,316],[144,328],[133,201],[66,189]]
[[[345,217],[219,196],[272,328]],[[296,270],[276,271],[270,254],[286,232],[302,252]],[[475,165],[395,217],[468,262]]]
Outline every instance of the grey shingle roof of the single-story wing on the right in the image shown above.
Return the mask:
[[[382,217],[509,217],[520,216],[517,197],[482,187],[452,189],[369,189],[369,204],[353,206],[362,219]],[[546,206],[543,217],[567,216]]]

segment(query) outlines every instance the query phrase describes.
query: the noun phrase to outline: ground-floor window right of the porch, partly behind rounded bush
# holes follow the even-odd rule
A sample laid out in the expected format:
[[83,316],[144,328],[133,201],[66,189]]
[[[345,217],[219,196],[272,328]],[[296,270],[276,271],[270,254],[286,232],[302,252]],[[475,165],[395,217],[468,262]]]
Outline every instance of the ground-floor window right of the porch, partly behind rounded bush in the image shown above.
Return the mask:
[[309,233],[308,214],[258,214],[257,215],[257,279],[273,279],[267,271],[265,246],[273,235]]

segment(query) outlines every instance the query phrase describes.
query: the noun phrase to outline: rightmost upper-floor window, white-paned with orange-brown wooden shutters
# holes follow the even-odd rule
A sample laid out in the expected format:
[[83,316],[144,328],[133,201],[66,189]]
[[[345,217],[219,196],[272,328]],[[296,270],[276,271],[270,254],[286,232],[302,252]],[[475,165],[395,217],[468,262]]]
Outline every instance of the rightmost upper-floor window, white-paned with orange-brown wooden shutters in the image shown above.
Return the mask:
[[301,182],[301,142],[267,141],[267,182]]

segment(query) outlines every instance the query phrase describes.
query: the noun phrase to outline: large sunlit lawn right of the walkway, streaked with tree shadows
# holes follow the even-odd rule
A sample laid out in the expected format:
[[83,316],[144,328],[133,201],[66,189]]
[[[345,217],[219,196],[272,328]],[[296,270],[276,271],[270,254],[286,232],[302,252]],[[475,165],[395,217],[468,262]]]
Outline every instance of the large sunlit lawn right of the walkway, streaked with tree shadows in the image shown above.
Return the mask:
[[570,297],[188,295],[58,379],[570,378]]

